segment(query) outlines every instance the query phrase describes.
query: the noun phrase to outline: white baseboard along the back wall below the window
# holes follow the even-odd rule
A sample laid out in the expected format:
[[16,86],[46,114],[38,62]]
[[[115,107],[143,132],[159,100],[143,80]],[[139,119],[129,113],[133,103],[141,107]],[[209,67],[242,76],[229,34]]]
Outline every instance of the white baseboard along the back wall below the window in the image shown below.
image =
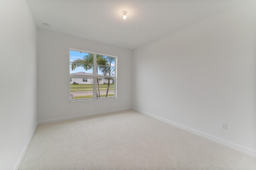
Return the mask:
[[57,118],[57,119],[49,119],[49,120],[44,120],[44,121],[38,121],[38,124],[46,124],[46,123],[52,123],[52,122],[57,122],[57,121],[65,121],[65,120],[70,120],[70,119],[78,119],[82,117],[89,117],[89,116],[96,116],[96,115],[103,115],[106,113],[112,113],[112,112],[117,112],[117,111],[125,111],[125,110],[130,110],[131,107],[123,108],[123,109],[114,109],[114,110],[108,110],[108,111],[100,111],[96,113],[89,113],[89,114],[84,114],[84,115],[76,115],[76,116],[68,116],[68,117],[62,117],[62,118]]

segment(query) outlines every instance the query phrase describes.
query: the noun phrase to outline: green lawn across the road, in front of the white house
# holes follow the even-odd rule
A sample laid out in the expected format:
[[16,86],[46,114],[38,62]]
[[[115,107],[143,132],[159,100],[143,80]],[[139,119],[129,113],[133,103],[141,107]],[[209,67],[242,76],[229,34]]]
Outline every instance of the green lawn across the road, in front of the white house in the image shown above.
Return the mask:
[[[100,90],[107,90],[108,84],[100,84]],[[109,90],[114,90],[115,85],[110,84]],[[70,92],[93,91],[93,84],[70,84]]]

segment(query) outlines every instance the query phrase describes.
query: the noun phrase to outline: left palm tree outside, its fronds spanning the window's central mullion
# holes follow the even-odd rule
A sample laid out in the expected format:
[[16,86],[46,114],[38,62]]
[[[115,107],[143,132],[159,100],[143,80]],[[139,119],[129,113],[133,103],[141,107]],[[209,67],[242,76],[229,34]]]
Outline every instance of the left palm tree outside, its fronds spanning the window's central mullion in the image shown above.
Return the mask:
[[[85,55],[82,59],[75,59],[74,61],[72,61],[72,63],[70,63],[71,69],[75,70],[78,67],[83,67],[84,70],[90,70],[93,68],[93,59],[94,59],[93,54]],[[101,72],[106,72],[106,67],[108,66],[107,58],[103,57],[102,55],[97,55],[96,59],[97,59],[96,62],[98,65],[98,69]],[[96,68],[96,75],[98,74],[98,69]],[[98,78],[97,78],[97,85],[98,85],[97,97],[100,98],[100,84],[99,84]],[[107,96],[108,95],[106,95],[106,97]]]

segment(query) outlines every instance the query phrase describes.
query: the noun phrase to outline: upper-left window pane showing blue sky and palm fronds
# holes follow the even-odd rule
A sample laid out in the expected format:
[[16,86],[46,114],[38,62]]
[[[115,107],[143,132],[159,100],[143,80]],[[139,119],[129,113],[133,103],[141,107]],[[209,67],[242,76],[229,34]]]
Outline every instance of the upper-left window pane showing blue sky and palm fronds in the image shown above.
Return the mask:
[[94,54],[70,50],[70,73],[93,74]]

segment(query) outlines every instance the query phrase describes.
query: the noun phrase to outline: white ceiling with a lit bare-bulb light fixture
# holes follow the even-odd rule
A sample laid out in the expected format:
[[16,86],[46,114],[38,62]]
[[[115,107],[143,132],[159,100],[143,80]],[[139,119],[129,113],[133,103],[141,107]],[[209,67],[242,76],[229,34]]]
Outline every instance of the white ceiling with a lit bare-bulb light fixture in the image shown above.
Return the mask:
[[[135,49],[246,0],[27,1],[39,28]],[[123,10],[128,11],[126,20]]]

